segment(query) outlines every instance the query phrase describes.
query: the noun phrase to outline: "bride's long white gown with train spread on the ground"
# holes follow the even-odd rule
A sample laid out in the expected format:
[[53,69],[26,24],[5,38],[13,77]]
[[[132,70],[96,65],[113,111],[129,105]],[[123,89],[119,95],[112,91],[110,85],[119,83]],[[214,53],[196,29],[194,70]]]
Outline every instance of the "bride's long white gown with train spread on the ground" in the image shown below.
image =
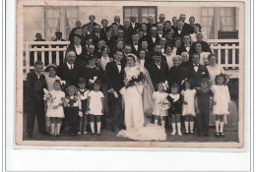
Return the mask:
[[[126,67],[125,76],[131,77],[138,74],[138,67]],[[139,67],[143,71],[143,67]],[[147,124],[144,114],[144,96],[143,83],[137,83],[135,86],[123,87],[120,93],[124,99],[124,117],[126,130],[121,130],[117,137],[128,138],[135,141],[165,141],[166,134],[163,127]]]

